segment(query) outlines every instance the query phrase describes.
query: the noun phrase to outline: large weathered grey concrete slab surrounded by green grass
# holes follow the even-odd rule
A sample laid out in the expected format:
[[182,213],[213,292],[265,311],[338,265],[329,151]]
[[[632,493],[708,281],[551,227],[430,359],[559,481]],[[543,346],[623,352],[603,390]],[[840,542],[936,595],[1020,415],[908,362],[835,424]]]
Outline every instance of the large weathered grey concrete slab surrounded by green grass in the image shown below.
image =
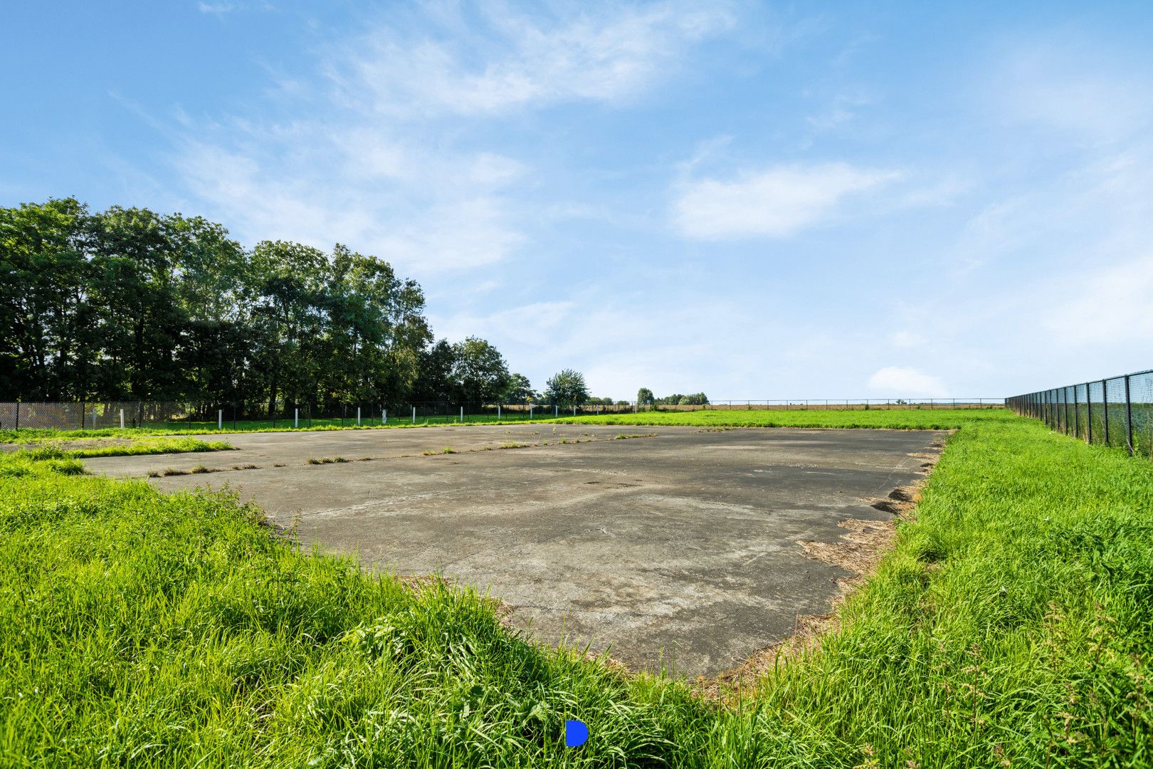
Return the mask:
[[[698,676],[828,611],[847,573],[797,542],[836,542],[847,518],[889,519],[868,500],[919,478],[943,433],[534,424],[226,438],[239,451],[85,465],[121,476],[257,465],[151,481],[228,485],[295,522],[302,542],[490,590],[542,642]],[[497,448],[510,443],[533,445]],[[421,453],[445,446],[460,453]],[[334,455],[372,461],[307,463]]]

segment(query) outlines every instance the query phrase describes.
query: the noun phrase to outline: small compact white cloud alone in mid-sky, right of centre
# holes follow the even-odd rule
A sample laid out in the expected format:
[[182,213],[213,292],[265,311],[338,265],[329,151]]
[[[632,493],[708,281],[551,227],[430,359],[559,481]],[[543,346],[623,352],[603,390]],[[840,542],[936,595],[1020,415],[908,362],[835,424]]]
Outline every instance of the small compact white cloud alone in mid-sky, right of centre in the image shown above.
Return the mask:
[[785,238],[835,214],[845,196],[899,175],[828,163],[776,166],[734,181],[688,182],[673,203],[673,224],[683,235],[702,240]]

